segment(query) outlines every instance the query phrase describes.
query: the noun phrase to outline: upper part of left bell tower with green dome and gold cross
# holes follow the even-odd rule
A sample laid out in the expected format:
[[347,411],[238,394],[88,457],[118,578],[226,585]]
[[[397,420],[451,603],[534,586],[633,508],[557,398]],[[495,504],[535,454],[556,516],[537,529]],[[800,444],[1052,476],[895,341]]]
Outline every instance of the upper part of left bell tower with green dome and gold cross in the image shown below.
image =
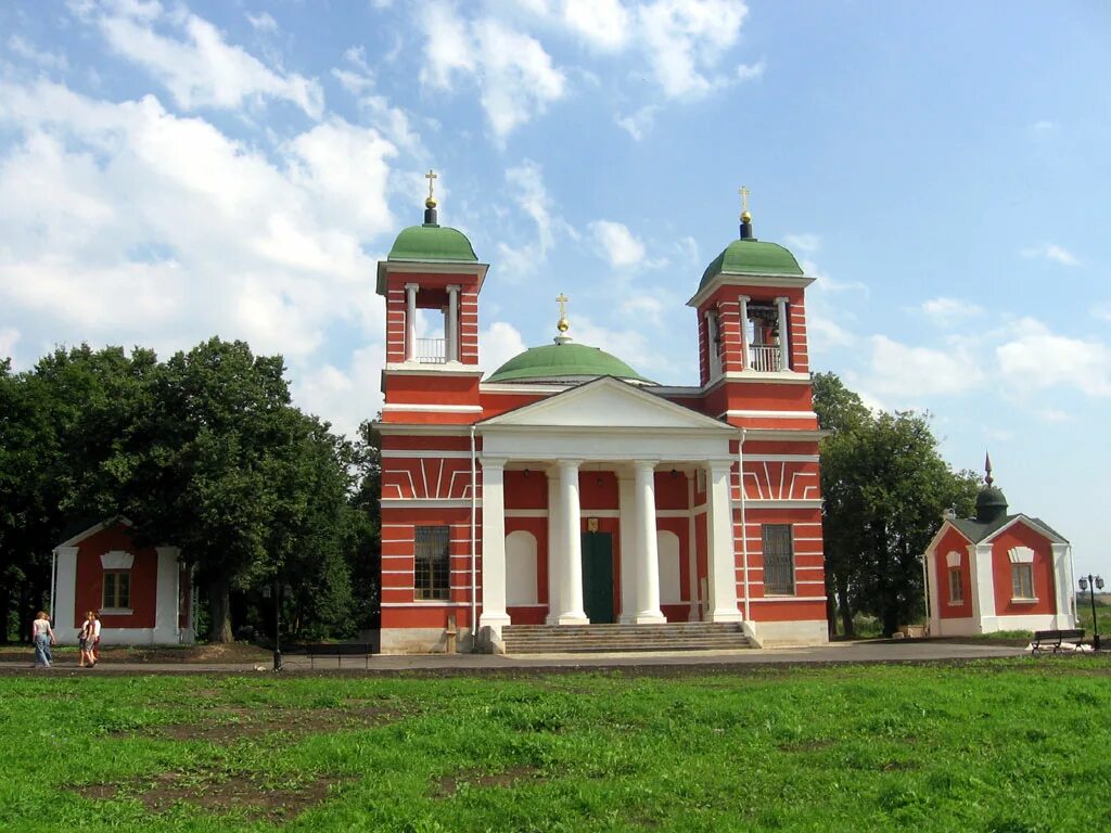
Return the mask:
[[478,297],[489,265],[461,231],[440,225],[429,171],[424,222],[378,264],[386,298],[382,422],[469,423],[479,408]]

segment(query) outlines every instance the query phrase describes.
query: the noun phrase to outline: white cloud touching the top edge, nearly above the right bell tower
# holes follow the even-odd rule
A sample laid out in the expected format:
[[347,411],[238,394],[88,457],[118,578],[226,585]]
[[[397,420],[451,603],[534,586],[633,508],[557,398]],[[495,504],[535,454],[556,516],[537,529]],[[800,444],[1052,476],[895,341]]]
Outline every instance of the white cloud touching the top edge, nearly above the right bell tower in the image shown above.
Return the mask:
[[638,8],[644,56],[668,98],[727,83],[705,73],[737,42],[747,14],[740,0],[655,0]]

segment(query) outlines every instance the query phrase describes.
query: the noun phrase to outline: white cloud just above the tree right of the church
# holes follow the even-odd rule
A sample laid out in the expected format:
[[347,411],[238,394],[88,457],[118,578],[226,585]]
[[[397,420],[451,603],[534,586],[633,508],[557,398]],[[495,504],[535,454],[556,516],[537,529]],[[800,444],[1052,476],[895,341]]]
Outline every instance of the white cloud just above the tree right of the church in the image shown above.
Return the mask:
[[963,348],[934,350],[872,335],[867,385],[894,398],[962,393],[981,384],[983,371]]

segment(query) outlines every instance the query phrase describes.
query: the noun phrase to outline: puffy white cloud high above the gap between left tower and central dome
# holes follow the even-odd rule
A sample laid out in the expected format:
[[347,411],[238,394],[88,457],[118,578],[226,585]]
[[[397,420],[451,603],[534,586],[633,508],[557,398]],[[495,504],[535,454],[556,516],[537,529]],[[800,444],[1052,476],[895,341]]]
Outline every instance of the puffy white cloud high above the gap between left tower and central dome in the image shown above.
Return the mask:
[[427,39],[421,79],[449,90],[457,76],[477,83],[496,141],[563,98],[563,72],[531,36],[493,18],[467,22],[447,3],[426,7],[420,22]]

